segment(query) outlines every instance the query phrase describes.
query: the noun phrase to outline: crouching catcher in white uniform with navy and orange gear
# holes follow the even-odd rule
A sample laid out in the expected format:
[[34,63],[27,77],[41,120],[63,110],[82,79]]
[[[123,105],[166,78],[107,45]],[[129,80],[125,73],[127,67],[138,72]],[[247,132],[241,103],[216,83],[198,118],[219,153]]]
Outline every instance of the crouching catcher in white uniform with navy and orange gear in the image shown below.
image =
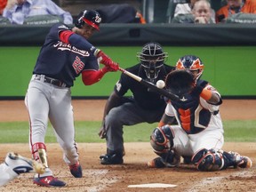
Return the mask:
[[[150,143],[159,156],[149,167],[178,167],[180,156],[190,156],[199,171],[218,171],[228,167],[252,167],[252,160],[236,152],[221,150],[224,144],[219,107],[220,93],[211,84],[200,80],[204,71],[202,60],[185,55],[176,70],[165,78],[168,91],[180,100],[169,100]],[[171,126],[176,116],[179,125]]]

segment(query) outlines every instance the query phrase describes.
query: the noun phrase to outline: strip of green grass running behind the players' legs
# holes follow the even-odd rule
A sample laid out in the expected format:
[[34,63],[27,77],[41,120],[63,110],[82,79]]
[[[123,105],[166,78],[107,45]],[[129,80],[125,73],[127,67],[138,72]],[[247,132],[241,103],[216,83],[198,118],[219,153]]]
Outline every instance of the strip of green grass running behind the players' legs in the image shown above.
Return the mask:
[[[105,142],[98,136],[100,122],[75,122],[77,142]],[[224,121],[225,141],[256,142],[256,120]],[[149,136],[156,124],[136,124],[124,126],[124,142],[148,142]],[[0,123],[0,143],[27,143],[28,123]],[[54,143],[56,138],[49,124],[45,142]]]

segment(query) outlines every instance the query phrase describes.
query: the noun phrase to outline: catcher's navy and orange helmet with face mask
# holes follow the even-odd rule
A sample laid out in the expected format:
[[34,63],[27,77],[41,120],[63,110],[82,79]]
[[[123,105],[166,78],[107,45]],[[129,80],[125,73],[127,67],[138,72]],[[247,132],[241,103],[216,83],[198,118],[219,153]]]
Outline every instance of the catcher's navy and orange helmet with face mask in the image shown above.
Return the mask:
[[[199,57],[195,55],[185,55],[178,60],[176,69],[187,69],[191,71],[197,81],[203,74],[204,64]],[[197,72],[196,74],[194,72]]]

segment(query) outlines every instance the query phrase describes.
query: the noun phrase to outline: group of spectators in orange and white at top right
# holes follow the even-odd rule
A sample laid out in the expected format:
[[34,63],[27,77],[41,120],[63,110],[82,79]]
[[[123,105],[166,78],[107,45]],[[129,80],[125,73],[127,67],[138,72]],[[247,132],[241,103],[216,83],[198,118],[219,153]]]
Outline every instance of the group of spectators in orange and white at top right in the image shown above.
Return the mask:
[[[173,0],[170,0],[173,1]],[[256,0],[223,0],[219,10],[213,10],[209,0],[190,0],[177,4],[173,23],[255,23]]]

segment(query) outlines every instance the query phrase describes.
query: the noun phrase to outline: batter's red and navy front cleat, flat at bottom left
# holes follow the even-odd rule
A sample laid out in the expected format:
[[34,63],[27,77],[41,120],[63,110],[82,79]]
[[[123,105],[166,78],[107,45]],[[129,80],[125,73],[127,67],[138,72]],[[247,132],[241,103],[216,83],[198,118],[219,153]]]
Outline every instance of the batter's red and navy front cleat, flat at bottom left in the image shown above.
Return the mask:
[[43,187],[56,187],[61,188],[66,186],[66,183],[54,178],[53,176],[39,177],[34,179],[34,183]]

